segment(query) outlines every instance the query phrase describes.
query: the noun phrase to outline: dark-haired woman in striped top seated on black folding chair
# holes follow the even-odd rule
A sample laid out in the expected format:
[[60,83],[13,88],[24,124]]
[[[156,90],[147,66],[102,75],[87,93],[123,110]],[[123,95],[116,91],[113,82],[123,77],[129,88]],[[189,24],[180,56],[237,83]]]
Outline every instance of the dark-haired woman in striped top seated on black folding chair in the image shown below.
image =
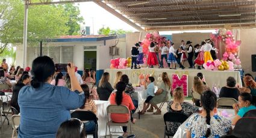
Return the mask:
[[[81,106],[80,109],[92,111],[95,115],[97,115],[95,102],[90,99],[90,91],[89,91],[88,85],[83,84],[83,85],[81,85],[81,88],[83,89],[84,95],[86,97],[84,98],[84,105]],[[95,130],[95,122],[94,121],[88,121],[88,122],[84,123],[84,126],[86,127],[86,131]]]

